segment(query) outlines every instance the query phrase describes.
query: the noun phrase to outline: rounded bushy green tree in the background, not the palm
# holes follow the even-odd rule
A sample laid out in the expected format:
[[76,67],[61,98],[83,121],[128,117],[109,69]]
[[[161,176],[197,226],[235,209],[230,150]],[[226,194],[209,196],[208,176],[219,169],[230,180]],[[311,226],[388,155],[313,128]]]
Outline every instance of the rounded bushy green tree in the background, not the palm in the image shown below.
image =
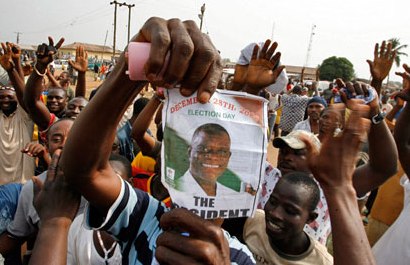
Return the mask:
[[321,80],[333,81],[342,78],[350,81],[354,78],[353,64],[344,57],[332,56],[325,59],[319,66],[319,77]]

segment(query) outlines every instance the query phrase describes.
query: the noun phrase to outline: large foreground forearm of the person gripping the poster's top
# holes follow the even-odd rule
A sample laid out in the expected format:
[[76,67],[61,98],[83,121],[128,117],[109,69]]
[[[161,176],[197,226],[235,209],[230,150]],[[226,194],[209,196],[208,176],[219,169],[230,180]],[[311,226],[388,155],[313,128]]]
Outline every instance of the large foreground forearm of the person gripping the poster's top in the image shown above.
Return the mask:
[[146,83],[130,81],[126,69],[122,55],[70,131],[61,159],[67,179],[77,188],[84,188],[82,181],[89,181],[93,172],[107,166],[117,124]]

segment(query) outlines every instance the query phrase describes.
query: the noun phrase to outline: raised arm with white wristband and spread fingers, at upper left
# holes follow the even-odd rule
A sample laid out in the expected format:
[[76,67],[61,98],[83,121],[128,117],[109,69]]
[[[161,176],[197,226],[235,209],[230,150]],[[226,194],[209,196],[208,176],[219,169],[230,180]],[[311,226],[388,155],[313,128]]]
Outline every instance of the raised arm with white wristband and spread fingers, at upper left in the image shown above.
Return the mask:
[[24,103],[26,104],[31,118],[38,125],[40,131],[47,129],[51,120],[50,111],[40,99],[43,88],[43,78],[46,74],[48,64],[53,61],[54,54],[64,42],[64,39],[61,38],[54,46],[53,39],[51,37],[48,39],[49,45],[43,43],[38,46],[36,53],[37,62],[34,66],[33,73],[27,80],[26,91],[24,93]]

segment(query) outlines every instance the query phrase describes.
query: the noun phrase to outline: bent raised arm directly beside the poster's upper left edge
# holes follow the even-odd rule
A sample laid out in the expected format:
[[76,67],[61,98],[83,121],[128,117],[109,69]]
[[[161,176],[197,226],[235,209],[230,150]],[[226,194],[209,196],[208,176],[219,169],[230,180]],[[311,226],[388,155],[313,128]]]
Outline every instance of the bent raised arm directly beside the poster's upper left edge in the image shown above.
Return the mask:
[[147,133],[147,129],[151,124],[155,111],[161,105],[161,99],[157,93],[156,91],[132,124],[131,136],[137,142],[143,155],[150,154],[156,142],[155,138]]

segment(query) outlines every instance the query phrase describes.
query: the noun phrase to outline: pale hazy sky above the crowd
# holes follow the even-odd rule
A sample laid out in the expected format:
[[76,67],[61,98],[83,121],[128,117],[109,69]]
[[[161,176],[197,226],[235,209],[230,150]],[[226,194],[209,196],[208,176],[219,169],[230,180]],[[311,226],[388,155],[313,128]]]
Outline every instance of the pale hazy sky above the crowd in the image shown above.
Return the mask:
[[[366,59],[373,58],[376,42],[399,38],[402,44],[409,44],[403,52],[410,55],[410,4],[405,0],[126,1],[135,4],[131,8],[131,35],[152,16],[194,20],[199,25],[198,14],[205,3],[202,30],[222,58],[232,61],[248,43],[268,38],[278,42],[285,65],[303,66],[307,61],[307,66],[314,67],[330,56],[346,57],[361,78],[370,77]],[[112,46],[113,21],[114,5],[108,0],[14,0],[2,10],[0,41],[16,42],[16,32],[21,32],[21,44],[37,45],[52,36],[64,37],[65,44],[104,45],[106,41]],[[128,8],[118,7],[116,47],[120,50],[127,44],[127,24]],[[410,57],[402,57],[403,62],[410,64]],[[392,73],[397,70],[402,71],[393,67]],[[390,79],[401,80],[394,74]]]

